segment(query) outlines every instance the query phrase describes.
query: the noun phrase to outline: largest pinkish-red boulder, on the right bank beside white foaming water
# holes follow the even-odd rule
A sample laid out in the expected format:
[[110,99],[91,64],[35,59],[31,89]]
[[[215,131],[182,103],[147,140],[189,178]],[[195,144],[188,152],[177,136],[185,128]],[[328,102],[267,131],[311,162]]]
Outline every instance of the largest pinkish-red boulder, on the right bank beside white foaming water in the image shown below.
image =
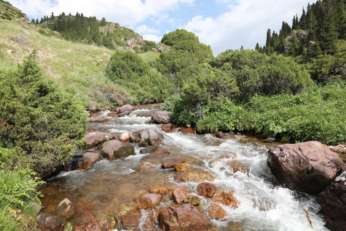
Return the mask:
[[269,151],[267,163],[282,185],[310,194],[325,190],[344,166],[336,153],[318,141],[276,146]]

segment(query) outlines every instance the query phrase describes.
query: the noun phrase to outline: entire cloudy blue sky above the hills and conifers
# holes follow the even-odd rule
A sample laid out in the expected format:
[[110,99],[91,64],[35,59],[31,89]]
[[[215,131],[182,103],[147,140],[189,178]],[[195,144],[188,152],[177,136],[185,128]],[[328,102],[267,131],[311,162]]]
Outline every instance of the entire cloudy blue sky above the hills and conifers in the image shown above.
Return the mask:
[[[184,28],[210,45],[214,55],[227,49],[253,49],[265,43],[266,31],[279,32],[282,21],[300,17],[308,0],[10,0],[31,18],[61,12],[105,17],[159,42],[164,34]],[[311,2],[312,3],[312,2]]]

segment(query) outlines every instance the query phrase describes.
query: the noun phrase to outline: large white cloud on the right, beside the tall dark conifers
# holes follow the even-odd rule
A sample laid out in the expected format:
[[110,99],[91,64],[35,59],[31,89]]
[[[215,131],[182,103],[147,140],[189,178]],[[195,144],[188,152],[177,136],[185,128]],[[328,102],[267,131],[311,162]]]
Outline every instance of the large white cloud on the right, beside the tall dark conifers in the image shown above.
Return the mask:
[[[226,0],[216,0],[226,3]],[[265,44],[268,28],[279,33],[281,22],[290,25],[293,15],[300,17],[308,0],[236,0],[229,10],[216,18],[195,16],[183,28],[198,35],[201,42],[211,45],[214,55],[227,49],[254,49]]]

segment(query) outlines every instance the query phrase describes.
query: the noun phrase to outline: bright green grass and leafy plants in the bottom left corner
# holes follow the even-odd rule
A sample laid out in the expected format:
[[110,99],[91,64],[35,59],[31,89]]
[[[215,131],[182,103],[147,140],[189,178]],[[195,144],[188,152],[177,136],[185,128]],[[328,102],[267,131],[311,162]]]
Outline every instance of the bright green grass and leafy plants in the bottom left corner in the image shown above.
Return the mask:
[[[7,151],[1,149],[2,152]],[[44,182],[29,168],[10,170],[0,166],[0,230],[35,230],[37,208],[41,207],[37,186]]]

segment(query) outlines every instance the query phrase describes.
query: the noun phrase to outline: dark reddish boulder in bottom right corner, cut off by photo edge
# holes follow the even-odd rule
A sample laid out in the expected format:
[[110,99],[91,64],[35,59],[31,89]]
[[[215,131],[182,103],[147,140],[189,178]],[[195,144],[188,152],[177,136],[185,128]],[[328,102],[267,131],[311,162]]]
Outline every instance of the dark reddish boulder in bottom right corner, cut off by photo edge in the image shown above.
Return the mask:
[[346,230],[346,167],[316,201],[324,212],[326,227],[333,231]]

